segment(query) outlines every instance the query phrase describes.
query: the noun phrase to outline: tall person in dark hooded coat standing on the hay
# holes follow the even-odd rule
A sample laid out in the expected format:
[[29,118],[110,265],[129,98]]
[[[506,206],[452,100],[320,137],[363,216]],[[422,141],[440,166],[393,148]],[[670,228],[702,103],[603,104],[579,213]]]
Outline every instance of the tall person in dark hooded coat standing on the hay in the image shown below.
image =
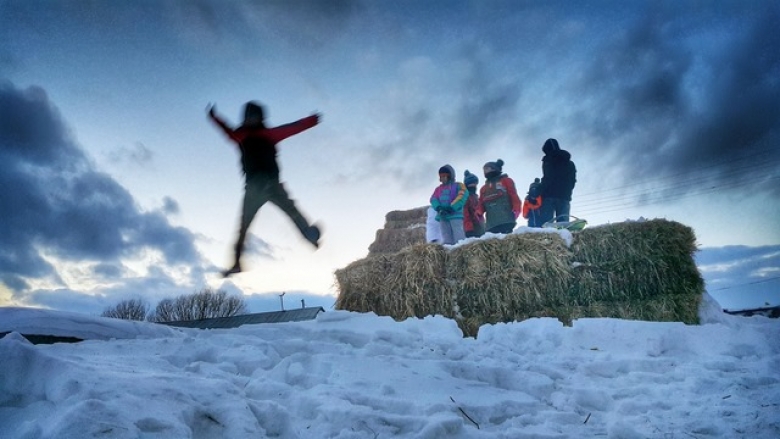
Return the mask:
[[569,221],[571,194],[577,183],[577,168],[571,154],[561,149],[558,141],[547,139],[542,146],[542,208],[541,223]]

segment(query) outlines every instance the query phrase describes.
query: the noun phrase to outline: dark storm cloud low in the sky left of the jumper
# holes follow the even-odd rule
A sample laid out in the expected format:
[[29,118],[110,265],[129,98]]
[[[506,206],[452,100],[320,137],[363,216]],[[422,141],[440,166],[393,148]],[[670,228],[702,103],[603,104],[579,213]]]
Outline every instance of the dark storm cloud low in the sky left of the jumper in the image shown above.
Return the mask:
[[0,273],[10,281],[55,275],[41,252],[106,263],[144,249],[168,263],[200,259],[191,232],[141,212],[94,168],[42,89],[0,82],[0,161]]

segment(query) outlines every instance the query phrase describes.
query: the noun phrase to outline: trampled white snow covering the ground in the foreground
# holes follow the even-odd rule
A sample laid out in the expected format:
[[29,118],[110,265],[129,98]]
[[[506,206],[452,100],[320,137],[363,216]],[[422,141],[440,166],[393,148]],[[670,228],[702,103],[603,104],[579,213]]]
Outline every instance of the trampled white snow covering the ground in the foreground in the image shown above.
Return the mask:
[[[777,438],[780,322],[443,317],[197,330],[0,308],[3,438]],[[19,333],[86,338],[33,345]]]

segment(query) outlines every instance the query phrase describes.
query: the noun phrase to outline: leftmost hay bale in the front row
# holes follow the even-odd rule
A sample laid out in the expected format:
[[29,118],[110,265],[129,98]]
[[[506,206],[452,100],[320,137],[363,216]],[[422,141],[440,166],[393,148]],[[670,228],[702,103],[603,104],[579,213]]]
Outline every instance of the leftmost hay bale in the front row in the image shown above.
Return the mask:
[[336,272],[336,309],[391,316],[452,317],[453,298],[444,279],[445,250],[418,244],[390,255],[353,262]]

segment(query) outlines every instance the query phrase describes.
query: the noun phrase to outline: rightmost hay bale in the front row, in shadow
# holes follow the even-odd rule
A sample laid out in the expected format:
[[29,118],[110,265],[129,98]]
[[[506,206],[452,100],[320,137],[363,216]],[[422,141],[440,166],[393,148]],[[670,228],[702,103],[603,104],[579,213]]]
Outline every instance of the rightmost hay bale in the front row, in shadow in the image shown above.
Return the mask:
[[[572,244],[572,318],[698,323],[704,280],[690,227],[666,220],[585,229]],[[582,264],[582,265],[579,265]]]

